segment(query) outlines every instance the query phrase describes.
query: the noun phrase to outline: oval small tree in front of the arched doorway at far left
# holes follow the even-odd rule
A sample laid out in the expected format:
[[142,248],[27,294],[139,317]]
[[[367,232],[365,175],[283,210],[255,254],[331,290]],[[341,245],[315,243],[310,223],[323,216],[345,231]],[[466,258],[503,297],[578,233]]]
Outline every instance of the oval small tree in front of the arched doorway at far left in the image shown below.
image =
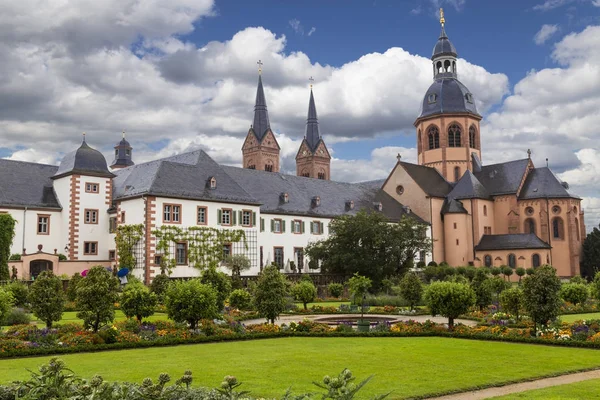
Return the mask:
[[62,281],[52,271],[43,271],[31,284],[29,303],[33,315],[52,328],[52,323],[60,321],[65,308],[65,293]]

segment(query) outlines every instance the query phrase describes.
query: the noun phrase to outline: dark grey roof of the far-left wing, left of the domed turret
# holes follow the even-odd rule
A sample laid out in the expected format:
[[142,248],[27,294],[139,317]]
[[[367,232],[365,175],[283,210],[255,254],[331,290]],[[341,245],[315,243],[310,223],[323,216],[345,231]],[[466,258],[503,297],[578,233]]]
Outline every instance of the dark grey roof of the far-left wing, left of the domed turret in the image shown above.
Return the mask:
[[58,167],[0,159],[0,206],[61,208],[51,177]]

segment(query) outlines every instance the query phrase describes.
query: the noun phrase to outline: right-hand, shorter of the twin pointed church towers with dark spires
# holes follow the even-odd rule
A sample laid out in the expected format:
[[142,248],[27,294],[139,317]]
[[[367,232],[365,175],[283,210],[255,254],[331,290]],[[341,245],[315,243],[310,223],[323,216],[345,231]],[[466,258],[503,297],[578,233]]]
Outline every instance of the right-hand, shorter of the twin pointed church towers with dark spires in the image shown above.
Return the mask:
[[298,154],[296,154],[296,175],[329,180],[331,179],[330,164],[331,156],[319,133],[317,107],[311,84],[306,133]]

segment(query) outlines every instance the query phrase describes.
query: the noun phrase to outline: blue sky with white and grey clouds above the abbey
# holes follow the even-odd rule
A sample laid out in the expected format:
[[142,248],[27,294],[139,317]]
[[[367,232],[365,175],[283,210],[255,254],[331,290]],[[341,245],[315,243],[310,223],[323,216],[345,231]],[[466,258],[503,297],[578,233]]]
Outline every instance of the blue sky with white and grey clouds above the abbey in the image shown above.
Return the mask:
[[283,172],[309,77],[332,179],[415,161],[438,10],[483,115],[484,164],[548,164],[600,222],[600,0],[20,0],[0,2],[0,157],[58,164],[86,132],[110,163],[202,148],[240,165],[257,61]]

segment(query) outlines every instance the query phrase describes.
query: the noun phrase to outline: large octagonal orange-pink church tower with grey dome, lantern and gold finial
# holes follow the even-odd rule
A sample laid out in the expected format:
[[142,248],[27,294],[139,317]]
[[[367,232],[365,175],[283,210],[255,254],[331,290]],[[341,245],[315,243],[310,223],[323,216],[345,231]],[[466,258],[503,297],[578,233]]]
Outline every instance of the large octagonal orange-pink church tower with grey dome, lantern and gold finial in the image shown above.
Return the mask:
[[433,84],[414,125],[419,164],[434,167],[446,180],[457,182],[466,170],[473,171],[473,154],[481,160],[481,115],[473,94],[458,80],[458,54],[446,35],[442,9],[440,23],[442,32],[431,56]]

